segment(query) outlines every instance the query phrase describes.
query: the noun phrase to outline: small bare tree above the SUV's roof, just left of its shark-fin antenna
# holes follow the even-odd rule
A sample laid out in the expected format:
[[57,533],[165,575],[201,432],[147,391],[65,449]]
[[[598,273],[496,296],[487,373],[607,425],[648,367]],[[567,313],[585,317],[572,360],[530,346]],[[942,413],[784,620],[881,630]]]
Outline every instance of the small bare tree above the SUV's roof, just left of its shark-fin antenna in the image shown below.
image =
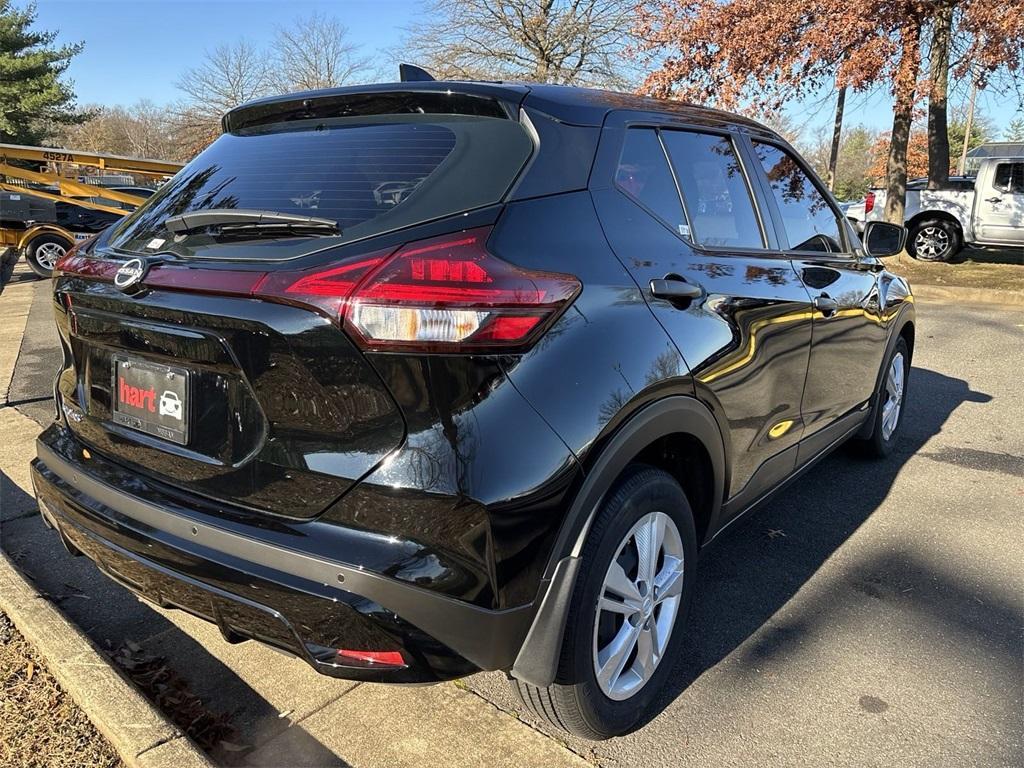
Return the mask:
[[360,46],[349,41],[348,28],[319,13],[279,27],[271,50],[270,80],[281,92],[347,85],[373,72]]

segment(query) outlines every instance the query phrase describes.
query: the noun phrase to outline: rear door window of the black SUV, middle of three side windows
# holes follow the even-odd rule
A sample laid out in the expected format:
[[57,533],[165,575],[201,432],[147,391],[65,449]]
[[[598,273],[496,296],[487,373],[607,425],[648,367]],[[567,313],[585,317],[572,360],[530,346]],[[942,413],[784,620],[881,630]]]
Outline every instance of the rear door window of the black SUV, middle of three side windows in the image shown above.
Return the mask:
[[694,243],[764,248],[746,179],[727,136],[667,130],[662,139],[686,201]]

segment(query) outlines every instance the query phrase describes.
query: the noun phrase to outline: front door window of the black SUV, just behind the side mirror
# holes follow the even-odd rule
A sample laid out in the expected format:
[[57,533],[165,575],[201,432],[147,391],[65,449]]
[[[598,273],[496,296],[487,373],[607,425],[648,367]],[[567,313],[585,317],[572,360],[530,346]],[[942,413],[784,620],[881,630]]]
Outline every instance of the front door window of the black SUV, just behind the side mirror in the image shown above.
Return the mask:
[[753,143],[782,214],[790,248],[794,251],[842,251],[839,219],[796,158],[774,144]]

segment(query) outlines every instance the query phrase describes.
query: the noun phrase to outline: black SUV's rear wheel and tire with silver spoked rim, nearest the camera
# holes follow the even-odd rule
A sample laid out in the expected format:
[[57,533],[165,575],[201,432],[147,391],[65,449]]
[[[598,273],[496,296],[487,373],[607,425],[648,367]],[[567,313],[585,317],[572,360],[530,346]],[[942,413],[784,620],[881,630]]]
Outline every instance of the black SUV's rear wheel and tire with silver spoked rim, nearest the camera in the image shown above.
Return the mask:
[[[645,580],[650,570],[640,570],[641,552],[650,549],[643,542],[655,530],[663,531],[662,544],[656,559],[645,561],[653,562],[648,568],[657,579]],[[539,719],[584,738],[604,739],[646,722],[683,640],[696,574],[696,534],[679,483],[659,469],[631,465],[603,502],[582,558],[555,682],[546,688],[515,679],[512,684]],[[609,580],[622,592],[609,589]],[[653,591],[649,583],[655,584]],[[633,596],[615,598],[623,593]],[[599,599],[615,603],[615,609],[599,611]],[[638,609],[617,608],[628,602]],[[616,648],[626,652],[616,654]],[[656,648],[660,653],[644,652]],[[610,672],[615,659],[622,662],[621,674],[605,675],[603,683],[597,672],[602,658],[602,669]]]

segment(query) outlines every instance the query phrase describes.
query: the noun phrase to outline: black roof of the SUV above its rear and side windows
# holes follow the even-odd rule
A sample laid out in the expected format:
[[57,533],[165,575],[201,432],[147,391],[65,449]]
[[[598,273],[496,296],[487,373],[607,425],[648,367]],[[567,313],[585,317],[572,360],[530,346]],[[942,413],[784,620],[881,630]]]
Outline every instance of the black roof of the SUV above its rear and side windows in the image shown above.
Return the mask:
[[234,108],[224,115],[222,126],[225,131],[234,130],[247,124],[254,115],[258,114],[261,119],[265,119],[268,113],[279,110],[285,116],[287,113],[292,113],[297,104],[304,104],[307,101],[315,102],[321,99],[344,99],[346,96],[384,93],[464,94],[492,98],[505,104],[510,115],[515,115],[518,111],[517,108],[525,104],[540,110],[560,122],[572,125],[599,126],[604,122],[604,118],[609,112],[629,110],[672,115],[698,123],[740,125],[759,132],[776,135],[771,129],[750,118],[685,101],[652,98],[597,88],[475,80],[377,83],[267,96]]

